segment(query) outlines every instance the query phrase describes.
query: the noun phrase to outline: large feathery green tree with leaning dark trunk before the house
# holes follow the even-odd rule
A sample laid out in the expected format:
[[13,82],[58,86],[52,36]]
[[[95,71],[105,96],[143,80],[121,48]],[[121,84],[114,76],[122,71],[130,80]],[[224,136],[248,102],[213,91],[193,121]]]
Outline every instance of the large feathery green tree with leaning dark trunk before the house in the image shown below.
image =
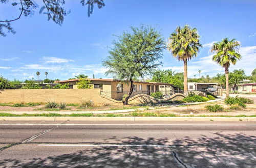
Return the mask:
[[141,25],[131,27],[131,32],[124,32],[112,44],[103,66],[109,69],[106,75],[130,81],[130,91],[123,101],[127,104],[133,93],[134,80],[143,78],[162,64],[159,60],[165,47],[164,39],[153,27]]

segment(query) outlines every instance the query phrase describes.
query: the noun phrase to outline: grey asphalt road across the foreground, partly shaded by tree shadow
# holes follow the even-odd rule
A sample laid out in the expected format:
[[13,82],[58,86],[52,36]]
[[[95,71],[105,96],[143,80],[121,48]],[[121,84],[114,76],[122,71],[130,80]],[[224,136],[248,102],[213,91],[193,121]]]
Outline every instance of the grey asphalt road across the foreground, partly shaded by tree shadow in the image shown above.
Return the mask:
[[0,167],[256,167],[256,122],[0,121]]

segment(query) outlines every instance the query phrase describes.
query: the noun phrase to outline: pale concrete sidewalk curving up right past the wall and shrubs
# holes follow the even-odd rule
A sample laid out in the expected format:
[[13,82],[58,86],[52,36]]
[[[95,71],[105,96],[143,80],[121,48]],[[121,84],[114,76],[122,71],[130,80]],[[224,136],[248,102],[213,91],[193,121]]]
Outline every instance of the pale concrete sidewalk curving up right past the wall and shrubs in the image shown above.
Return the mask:
[[[221,99],[209,100],[206,102],[194,102],[194,103],[181,103],[181,104],[171,104],[168,107],[175,107],[179,105],[196,105],[208,102],[216,102],[221,101]],[[162,106],[165,108],[167,106]],[[155,107],[149,107],[147,109],[155,109]],[[113,113],[129,113],[134,112],[137,110],[147,110],[146,108],[137,108],[137,109],[118,109],[118,110],[101,110],[101,111],[1,111],[1,113],[10,113],[15,115],[22,115],[22,114],[48,114],[48,113],[58,113],[63,115],[70,115],[70,114],[113,114]]]

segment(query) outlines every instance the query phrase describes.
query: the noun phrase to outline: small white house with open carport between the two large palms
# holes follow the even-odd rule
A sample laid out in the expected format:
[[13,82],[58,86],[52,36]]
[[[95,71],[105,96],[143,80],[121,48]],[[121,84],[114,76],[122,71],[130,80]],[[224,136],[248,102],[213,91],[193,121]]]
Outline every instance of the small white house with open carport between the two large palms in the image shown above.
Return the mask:
[[187,82],[188,91],[217,91],[218,83],[197,83],[197,82]]

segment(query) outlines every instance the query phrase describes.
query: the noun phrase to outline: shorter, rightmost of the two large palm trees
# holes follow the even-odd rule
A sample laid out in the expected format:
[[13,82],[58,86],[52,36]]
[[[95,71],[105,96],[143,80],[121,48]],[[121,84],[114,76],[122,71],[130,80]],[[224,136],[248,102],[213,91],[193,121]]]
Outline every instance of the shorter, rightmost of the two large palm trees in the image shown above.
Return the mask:
[[214,43],[211,47],[211,52],[215,53],[212,56],[212,61],[217,62],[220,66],[225,68],[226,77],[226,98],[229,97],[229,86],[228,86],[228,68],[230,64],[236,65],[237,61],[241,59],[239,53],[240,42],[236,39],[229,40],[228,38],[223,39],[217,43]]

